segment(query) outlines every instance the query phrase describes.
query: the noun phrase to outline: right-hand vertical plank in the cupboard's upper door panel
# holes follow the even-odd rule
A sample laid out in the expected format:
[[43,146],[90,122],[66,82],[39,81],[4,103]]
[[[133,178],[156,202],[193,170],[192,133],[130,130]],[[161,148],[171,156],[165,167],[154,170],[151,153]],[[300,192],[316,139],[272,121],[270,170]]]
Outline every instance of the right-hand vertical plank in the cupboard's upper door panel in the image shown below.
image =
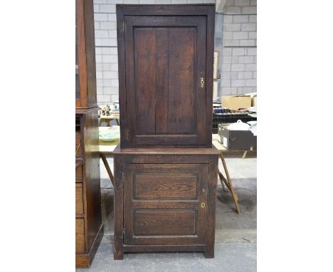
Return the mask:
[[195,28],[169,29],[169,132],[194,133]]

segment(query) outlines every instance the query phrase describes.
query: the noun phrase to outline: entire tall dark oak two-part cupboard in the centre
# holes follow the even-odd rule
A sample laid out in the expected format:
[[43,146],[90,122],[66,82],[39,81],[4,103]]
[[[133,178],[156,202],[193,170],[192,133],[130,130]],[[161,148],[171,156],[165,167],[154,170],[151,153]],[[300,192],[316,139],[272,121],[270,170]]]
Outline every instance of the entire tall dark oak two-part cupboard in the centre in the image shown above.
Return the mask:
[[214,14],[214,5],[117,5],[115,259],[144,251],[214,256]]

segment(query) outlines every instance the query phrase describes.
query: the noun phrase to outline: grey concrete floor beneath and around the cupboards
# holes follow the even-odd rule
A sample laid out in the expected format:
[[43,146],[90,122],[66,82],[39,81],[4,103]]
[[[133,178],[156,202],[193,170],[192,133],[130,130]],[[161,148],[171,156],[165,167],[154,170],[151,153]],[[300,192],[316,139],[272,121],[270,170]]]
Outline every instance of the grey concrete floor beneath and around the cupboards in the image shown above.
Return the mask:
[[[202,253],[125,253],[124,260],[113,260],[113,188],[104,164],[101,168],[102,220],[105,235],[89,271],[228,271],[257,270],[257,159],[249,154],[227,155],[233,187],[238,194],[240,215],[230,192],[223,192],[218,180],[216,200],[215,258]],[[113,169],[113,160],[107,161]],[[223,169],[221,160],[219,168]],[[224,173],[222,171],[222,173]],[[76,271],[88,271],[77,268]]]

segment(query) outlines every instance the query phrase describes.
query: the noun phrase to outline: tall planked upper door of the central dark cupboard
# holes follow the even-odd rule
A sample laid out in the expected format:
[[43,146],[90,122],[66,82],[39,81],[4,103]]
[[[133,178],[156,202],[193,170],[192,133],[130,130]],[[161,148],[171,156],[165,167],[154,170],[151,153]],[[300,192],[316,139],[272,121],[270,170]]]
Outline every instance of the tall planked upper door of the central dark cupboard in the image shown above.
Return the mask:
[[206,71],[205,17],[125,21],[125,147],[205,145],[206,88],[199,84]]

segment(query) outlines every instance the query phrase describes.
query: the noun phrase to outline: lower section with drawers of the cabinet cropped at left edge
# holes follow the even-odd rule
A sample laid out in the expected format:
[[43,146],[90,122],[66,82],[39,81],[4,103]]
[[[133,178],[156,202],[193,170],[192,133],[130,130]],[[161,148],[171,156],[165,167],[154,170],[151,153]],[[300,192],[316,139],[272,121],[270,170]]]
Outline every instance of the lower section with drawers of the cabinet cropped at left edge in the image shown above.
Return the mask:
[[97,109],[75,117],[75,263],[89,267],[103,235]]

